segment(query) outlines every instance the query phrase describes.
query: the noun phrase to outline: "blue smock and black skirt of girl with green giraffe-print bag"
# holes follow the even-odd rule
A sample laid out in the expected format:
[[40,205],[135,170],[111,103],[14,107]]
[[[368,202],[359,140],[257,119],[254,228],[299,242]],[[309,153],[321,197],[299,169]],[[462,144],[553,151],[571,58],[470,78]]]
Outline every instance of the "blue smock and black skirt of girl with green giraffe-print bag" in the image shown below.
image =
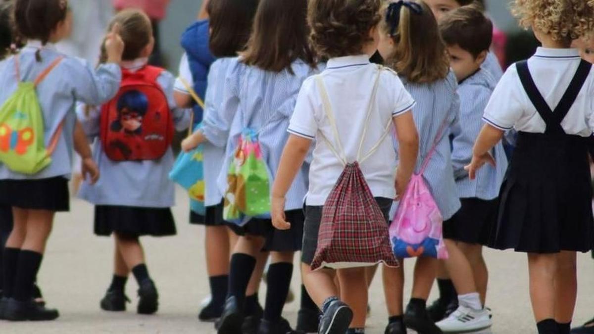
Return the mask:
[[[276,177],[280,157],[289,138],[286,129],[299,89],[307,77],[317,73],[316,69],[301,60],[293,62],[291,70],[292,73],[288,69],[279,73],[263,71],[245,65],[239,58],[233,59],[229,65],[223,103],[217,116],[220,125],[204,124],[204,133],[211,143],[226,143],[225,160],[217,181],[221,193],[226,191],[228,166],[245,128],[259,133],[258,140],[271,184]],[[225,131],[227,128],[229,131]],[[291,223],[289,230],[274,229],[270,219],[251,219],[242,228],[245,234],[266,237],[264,249],[268,251],[301,250],[302,207],[307,182],[307,166],[304,166],[286,195],[286,215]]]

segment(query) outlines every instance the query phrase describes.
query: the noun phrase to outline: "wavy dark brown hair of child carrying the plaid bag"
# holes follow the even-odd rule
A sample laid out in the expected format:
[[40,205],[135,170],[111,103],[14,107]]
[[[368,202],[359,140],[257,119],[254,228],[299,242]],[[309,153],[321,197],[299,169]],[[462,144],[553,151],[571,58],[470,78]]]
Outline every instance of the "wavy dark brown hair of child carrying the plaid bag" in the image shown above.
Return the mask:
[[310,40],[321,56],[356,55],[381,20],[380,0],[309,0]]

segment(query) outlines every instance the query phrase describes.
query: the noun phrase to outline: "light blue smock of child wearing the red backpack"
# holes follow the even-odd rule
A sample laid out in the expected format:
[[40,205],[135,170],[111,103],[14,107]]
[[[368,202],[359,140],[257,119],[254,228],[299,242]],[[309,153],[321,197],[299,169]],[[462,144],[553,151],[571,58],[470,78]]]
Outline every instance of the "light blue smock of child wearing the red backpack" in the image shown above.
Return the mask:
[[[122,67],[135,71],[146,65],[146,59],[122,62]],[[175,78],[163,71],[157,78],[157,84],[167,97],[173,124],[177,131],[188,128],[190,109],[178,109],[173,99]],[[175,188],[169,179],[169,171],[175,162],[171,147],[157,160],[115,162],[103,151],[100,140],[100,108],[93,108],[88,113],[84,105],[77,109],[78,119],[83,124],[87,136],[94,139],[93,159],[99,166],[101,177],[96,184],[83,182],[78,196],[95,205],[157,207],[166,208],[175,205]]]

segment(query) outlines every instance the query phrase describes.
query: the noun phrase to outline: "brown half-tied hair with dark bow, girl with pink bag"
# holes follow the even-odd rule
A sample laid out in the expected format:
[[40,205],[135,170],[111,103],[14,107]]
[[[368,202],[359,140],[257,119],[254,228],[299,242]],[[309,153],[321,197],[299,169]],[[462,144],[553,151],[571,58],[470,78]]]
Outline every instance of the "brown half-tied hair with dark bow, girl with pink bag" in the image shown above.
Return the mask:
[[[447,77],[450,71],[450,61],[445,52],[445,45],[441,40],[437,28],[437,21],[425,2],[410,1],[418,4],[419,12],[402,6],[398,26],[390,32],[391,20],[387,17],[381,24],[382,33],[390,34],[394,41],[394,53],[386,59],[387,66],[393,68],[399,75],[412,83],[432,83]],[[397,7],[396,7],[397,8]],[[386,6],[386,15],[388,6]]]

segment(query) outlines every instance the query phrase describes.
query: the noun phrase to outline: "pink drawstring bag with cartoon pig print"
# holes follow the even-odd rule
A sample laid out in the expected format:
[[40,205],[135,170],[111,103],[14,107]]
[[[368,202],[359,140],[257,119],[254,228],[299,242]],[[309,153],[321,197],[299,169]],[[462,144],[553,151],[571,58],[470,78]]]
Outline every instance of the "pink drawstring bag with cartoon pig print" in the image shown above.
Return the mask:
[[435,199],[429,191],[423,174],[429,160],[435,153],[435,147],[441,140],[445,125],[425,157],[421,171],[413,175],[408,188],[400,200],[394,221],[390,225],[390,241],[397,258],[430,256],[447,259],[448,254],[443,241],[443,216]]

